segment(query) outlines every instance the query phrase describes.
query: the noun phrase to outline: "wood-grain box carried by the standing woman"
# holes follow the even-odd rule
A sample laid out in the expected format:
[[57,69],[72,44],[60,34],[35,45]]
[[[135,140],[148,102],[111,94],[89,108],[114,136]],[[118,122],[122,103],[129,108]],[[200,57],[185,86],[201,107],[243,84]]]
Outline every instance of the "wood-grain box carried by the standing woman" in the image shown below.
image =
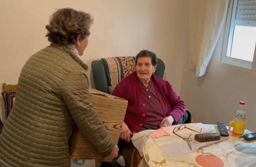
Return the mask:
[[[117,144],[128,105],[127,100],[97,90],[89,92],[93,107]],[[81,135],[77,127],[70,137],[69,149],[72,159],[102,159],[101,154]]]

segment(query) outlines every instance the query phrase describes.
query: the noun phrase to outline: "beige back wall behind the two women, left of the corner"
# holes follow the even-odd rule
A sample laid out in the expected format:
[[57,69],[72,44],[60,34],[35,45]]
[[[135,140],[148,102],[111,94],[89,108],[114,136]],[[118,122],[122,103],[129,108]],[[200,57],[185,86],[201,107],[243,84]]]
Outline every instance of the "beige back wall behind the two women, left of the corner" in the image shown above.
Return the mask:
[[[81,58],[89,66],[102,57],[152,50],[166,64],[165,79],[180,93],[182,5],[179,0],[1,0],[0,83],[17,83],[27,59],[49,44],[45,38],[49,16],[58,8],[72,7],[88,11],[95,19]],[[91,76],[91,71],[87,74]]]

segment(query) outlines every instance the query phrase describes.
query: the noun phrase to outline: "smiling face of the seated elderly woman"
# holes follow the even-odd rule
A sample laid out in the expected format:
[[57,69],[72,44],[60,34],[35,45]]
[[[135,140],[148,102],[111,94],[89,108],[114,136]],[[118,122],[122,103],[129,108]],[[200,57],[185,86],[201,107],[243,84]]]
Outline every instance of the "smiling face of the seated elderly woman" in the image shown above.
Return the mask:
[[156,66],[151,64],[151,58],[138,58],[136,73],[142,82],[149,82]]

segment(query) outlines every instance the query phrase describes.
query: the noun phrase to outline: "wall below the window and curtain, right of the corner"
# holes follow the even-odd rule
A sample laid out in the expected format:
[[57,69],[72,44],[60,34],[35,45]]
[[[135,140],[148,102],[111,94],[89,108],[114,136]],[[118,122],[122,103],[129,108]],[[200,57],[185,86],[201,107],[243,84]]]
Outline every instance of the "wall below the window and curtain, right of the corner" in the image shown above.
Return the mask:
[[[184,11],[189,11],[184,5]],[[188,16],[188,12],[186,12]],[[186,19],[187,17],[184,17]],[[190,20],[193,21],[193,20]],[[181,36],[184,49],[183,72],[181,73],[181,97],[194,115],[195,121],[216,124],[224,121],[228,125],[234,119],[240,101],[246,102],[247,129],[256,131],[256,73],[242,67],[220,62],[222,54],[223,32],[208,65],[207,74],[196,77],[189,69],[189,22]]]

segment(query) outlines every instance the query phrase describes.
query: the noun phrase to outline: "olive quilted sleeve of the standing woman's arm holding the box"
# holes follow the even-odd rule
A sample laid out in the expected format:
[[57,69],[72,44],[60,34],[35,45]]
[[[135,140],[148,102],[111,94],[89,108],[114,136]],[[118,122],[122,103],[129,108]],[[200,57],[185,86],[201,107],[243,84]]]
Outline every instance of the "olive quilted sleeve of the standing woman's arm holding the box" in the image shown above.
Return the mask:
[[90,102],[86,74],[79,70],[71,71],[61,84],[61,94],[83,136],[103,157],[110,155],[115,143]]

